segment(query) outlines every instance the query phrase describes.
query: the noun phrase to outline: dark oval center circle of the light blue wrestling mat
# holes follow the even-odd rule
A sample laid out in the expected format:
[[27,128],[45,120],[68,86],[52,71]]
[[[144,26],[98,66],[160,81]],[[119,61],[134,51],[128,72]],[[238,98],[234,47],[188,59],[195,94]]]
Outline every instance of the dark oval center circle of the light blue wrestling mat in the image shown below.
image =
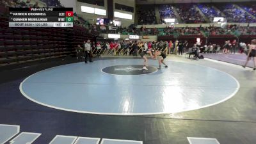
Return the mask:
[[143,69],[143,65],[114,65],[102,68],[102,72],[115,75],[141,75],[151,74],[157,71],[156,67],[147,67],[148,70]]

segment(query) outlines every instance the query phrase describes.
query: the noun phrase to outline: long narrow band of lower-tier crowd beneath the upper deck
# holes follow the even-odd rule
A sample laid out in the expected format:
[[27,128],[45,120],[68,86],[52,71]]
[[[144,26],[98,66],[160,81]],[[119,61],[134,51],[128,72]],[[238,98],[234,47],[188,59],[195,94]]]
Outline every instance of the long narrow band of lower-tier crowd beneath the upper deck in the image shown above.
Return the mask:
[[174,26],[166,26],[165,28],[147,28],[147,26],[141,26],[141,28],[136,28],[135,26],[130,26],[127,28],[118,26],[115,31],[107,31],[106,29],[97,30],[100,31],[100,33],[116,33],[120,35],[256,35],[256,27],[242,27],[236,25],[227,25],[225,28],[215,26],[196,28],[175,28]]

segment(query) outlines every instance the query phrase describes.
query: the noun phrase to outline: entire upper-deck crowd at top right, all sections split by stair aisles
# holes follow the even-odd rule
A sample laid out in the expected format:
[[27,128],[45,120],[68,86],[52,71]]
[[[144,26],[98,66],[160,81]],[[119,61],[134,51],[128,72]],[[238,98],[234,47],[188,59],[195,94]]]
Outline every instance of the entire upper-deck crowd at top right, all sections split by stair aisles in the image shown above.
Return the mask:
[[[238,6],[237,6],[238,5]],[[197,10],[204,13],[212,22],[214,17],[225,17],[228,22],[256,22],[256,4],[254,3],[199,3],[199,4],[162,4],[159,8],[159,24],[164,23],[164,18],[177,18],[180,17],[181,22],[205,23],[207,22],[202,14]],[[239,8],[239,6],[242,8]],[[143,5],[139,8],[138,24],[152,24],[156,22],[156,14],[154,13],[154,6]],[[175,15],[177,10],[178,15]],[[254,15],[252,17],[250,14]],[[150,18],[147,18],[150,17]],[[154,22],[153,22],[154,21]]]

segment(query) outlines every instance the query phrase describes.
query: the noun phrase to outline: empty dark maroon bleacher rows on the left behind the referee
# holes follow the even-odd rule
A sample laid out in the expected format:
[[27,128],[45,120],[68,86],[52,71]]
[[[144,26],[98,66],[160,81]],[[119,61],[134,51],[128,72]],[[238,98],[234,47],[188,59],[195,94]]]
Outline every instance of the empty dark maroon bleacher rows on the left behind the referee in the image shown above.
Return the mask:
[[9,28],[8,6],[0,13],[0,67],[29,61],[63,58],[76,54],[75,47],[99,33],[74,28]]

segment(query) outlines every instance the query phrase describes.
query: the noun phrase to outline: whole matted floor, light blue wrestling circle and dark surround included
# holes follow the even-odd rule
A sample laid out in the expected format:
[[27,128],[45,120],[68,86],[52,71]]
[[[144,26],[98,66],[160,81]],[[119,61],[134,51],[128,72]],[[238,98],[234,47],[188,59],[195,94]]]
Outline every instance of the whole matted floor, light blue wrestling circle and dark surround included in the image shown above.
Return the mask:
[[145,72],[142,62],[65,59],[3,70],[0,135],[19,125],[23,135],[6,143],[255,143],[252,68],[170,56],[168,68],[150,60]]

